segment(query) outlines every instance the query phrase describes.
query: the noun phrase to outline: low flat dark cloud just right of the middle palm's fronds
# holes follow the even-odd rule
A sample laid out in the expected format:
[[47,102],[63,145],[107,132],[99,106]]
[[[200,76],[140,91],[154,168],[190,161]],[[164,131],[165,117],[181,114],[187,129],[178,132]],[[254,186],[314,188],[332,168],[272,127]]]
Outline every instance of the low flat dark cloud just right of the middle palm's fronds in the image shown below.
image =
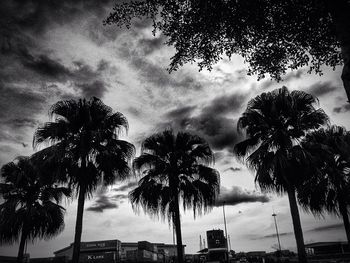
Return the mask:
[[238,186],[233,186],[231,189],[221,187],[220,195],[215,206],[221,206],[224,202],[226,205],[238,205],[241,203],[261,202],[267,203],[270,198],[267,195],[243,190]]

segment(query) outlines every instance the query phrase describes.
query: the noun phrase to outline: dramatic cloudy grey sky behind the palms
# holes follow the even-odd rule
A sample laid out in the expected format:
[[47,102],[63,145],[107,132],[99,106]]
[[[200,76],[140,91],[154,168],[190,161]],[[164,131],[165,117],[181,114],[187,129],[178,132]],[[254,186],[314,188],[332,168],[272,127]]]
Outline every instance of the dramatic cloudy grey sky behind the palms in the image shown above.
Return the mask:
[[[35,3],[34,3],[35,2]],[[74,2],[74,4],[73,4]],[[295,249],[288,200],[260,193],[254,174],[236,161],[233,145],[241,139],[236,122],[249,99],[264,91],[300,89],[317,96],[332,123],[350,129],[349,104],[340,80],[341,68],[324,68],[322,76],[307,69],[289,72],[283,82],[247,76],[240,57],[223,60],[211,72],[185,65],[167,73],[174,53],[152,35],[149,21],[134,21],[130,30],[103,26],[113,6],[104,1],[2,1],[0,7],[0,165],[30,155],[34,130],[48,121],[47,112],[62,99],[101,98],[129,120],[125,139],[139,149],[148,135],[173,127],[196,132],[215,151],[221,174],[221,200],[226,200],[228,232],[235,251],[276,247],[271,216],[278,214],[282,247]],[[127,199],[135,179],[99,190],[86,203],[82,240],[119,239],[172,243],[167,222],[135,213]],[[50,241],[28,244],[32,257],[52,256],[73,241],[76,201],[65,202],[66,227]],[[341,221],[314,218],[301,211],[305,242],[345,240]],[[223,229],[222,207],[193,219],[183,213],[186,252],[199,249],[199,235]],[[18,244],[0,247],[16,255]]]

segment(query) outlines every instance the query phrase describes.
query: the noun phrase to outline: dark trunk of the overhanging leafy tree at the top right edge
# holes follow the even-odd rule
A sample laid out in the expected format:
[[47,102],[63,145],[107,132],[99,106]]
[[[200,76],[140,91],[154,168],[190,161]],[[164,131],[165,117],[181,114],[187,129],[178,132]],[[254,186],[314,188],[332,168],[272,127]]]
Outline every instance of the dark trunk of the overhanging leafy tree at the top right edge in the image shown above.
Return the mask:
[[341,78],[350,102],[350,3],[347,0],[326,0],[340,42],[344,62]]

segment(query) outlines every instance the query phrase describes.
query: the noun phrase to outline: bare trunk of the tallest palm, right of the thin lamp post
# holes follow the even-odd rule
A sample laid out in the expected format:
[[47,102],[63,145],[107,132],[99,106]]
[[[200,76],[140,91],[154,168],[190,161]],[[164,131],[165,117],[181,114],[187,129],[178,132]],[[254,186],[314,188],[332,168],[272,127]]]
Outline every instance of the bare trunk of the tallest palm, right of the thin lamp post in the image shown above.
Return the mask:
[[300,263],[306,263],[307,258],[306,258],[306,252],[305,252],[303,230],[301,228],[299,210],[298,210],[297,200],[295,197],[295,190],[294,190],[294,187],[288,187],[287,190],[288,190],[290,213],[292,215],[292,220],[293,220],[294,235],[295,235],[295,240],[297,242],[298,259]]

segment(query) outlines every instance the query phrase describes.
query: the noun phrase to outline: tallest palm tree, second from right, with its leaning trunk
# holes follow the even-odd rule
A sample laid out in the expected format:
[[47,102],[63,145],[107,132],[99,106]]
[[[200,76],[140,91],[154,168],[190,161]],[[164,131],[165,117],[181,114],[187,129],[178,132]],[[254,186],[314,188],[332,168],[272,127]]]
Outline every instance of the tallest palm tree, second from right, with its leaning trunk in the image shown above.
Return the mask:
[[298,248],[299,262],[307,262],[295,188],[302,179],[307,155],[300,140],[307,132],[328,120],[316,109],[316,98],[303,91],[289,92],[286,87],[262,93],[249,101],[238,121],[247,138],[235,145],[239,158],[256,171],[255,182],[262,190],[287,192]]

